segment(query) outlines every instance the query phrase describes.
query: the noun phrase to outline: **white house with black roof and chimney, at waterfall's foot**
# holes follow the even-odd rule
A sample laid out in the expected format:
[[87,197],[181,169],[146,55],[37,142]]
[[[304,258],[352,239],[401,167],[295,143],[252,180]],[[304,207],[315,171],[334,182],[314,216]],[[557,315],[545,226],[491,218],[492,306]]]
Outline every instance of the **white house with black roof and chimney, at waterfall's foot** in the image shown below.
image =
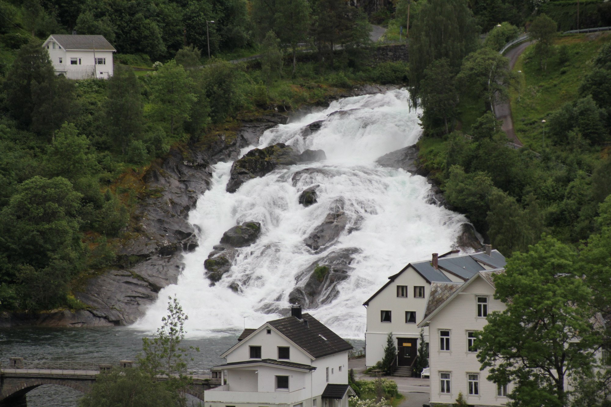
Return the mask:
[[222,386],[205,391],[207,407],[348,407],[348,351],[340,338],[300,306],[290,317],[244,329],[213,367]]

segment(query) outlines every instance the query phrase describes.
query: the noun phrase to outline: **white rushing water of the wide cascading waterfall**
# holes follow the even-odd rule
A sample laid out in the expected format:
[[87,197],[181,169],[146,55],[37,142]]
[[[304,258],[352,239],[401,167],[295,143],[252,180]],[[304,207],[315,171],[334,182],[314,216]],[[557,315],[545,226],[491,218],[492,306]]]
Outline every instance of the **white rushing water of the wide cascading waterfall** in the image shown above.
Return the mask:
[[[300,271],[329,251],[356,247],[362,252],[351,263],[354,271],[338,286],[339,296],[309,312],[343,337],[362,338],[362,303],[408,262],[450,250],[466,222],[462,215],[427,204],[430,185],[424,177],[375,164],[379,156],[415,144],[420,137],[408,97],[405,90],[394,90],[345,98],[266,131],[256,147],[284,142],[300,151],[322,149],[327,160],[276,169],[244,183],[236,193],[225,192],[232,163],[216,164],[210,191],[189,214],[200,229],[199,248],[185,255],[178,284],[161,290],[135,328],[155,329],[166,314],[168,295],[177,295],[189,315],[189,335],[224,335],[243,328],[244,317],[247,328],[257,328],[279,317],[263,314],[259,307],[289,306],[288,295]],[[302,137],[301,130],[318,120],[324,120],[321,130]],[[293,174],[310,167],[324,171],[310,172],[294,185]],[[313,184],[320,185],[318,203],[305,208],[298,197]],[[357,230],[342,233],[332,248],[314,254],[303,240],[340,201],[349,218],[346,229]],[[226,230],[246,221],[261,222],[260,237],[240,249],[230,272],[210,287],[204,260]],[[232,282],[240,284],[241,293],[230,290]]]

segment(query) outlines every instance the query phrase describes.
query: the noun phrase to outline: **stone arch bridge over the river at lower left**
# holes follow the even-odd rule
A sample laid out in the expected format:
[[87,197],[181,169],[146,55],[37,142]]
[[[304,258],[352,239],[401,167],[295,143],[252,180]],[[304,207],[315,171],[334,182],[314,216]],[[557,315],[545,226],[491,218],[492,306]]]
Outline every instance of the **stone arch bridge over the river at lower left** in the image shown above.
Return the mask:
[[[26,394],[43,384],[71,387],[83,393],[91,391],[97,375],[115,368],[133,367],[133,361],[118,364],[97,362],[25,362],[10,358],[9,367],[0,367],[0,407],[26,407]],[[220,384],[209,370],[191,374],[193,384],[187,394],[203,401],[203,391]],[[164,380],[159,376],[159,380]],[[216,383],[219,382],[219,383]]]

